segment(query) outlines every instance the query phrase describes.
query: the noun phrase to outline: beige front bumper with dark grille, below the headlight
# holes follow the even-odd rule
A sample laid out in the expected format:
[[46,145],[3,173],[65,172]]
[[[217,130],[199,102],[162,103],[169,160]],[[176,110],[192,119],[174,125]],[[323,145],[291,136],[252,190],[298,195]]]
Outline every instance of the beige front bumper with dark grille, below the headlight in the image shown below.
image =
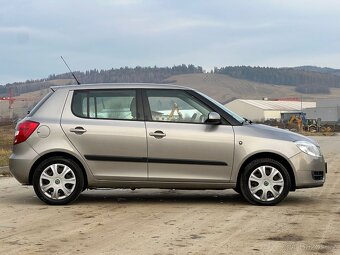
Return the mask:
[[323,157],[312,157],[301,152],[290,161],[294,166],[297,189],[323,186],[327,173],[327,163]]

